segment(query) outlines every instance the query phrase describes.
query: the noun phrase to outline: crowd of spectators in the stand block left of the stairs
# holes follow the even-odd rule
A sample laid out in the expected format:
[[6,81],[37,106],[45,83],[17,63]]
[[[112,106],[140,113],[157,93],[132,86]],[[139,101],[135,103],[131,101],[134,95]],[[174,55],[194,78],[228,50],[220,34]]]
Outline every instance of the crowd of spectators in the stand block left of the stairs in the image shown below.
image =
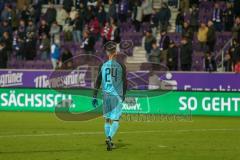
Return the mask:
[[[103,39],[103,43],[119,43],[118,24],[127,20],[126,14],[132,5],[126,0],[117,3],[113,0],[36,0],[17,8],[14,1],[1,1],[0,59],[4,62],[1,68],[7,68],[13,53],[18,60],[27,61],[34,60],[40,52],[41,60],[51,59],[55,69],[63,63],[61,57],[69,53],[68,49],[61,51],[62,41],[79,43],[85,54],[94,53],[99,39]],[[105,4],[109,6],[108,12]],[[44,5],[48,6],[45,12]]]

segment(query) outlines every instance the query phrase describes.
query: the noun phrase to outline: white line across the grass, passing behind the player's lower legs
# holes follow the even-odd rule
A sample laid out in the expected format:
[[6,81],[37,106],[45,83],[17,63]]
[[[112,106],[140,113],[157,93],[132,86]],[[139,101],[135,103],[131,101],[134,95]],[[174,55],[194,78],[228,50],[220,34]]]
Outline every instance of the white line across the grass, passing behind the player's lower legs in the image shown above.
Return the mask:
[[[181,130],[150,130],[150,131],[126,131],[118,132],[118,134],[143,134],[143,133],[185,133],[185,132],[226,132],[240,131],[234,128],[220,129],[181,129]],[[0,135],[0,138],[17,138],[17,137],[51,137],[51,136],[71,136],[71,135],[101,135],[103,132],[70,132],[70,133],[41,133],[41,134],[15,134],[15,135]]]

